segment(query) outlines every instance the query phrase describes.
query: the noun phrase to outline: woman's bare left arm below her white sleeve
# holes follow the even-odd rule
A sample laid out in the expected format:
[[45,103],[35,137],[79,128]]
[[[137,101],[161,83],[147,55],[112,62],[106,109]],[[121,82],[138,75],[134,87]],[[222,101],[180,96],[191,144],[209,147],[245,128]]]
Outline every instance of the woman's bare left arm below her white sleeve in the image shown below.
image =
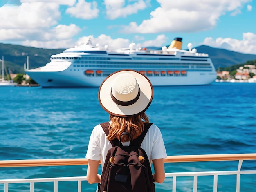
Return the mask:
[[99,168],[99,162],[96,160],[88,159],[88,168],[86,179],[88,183],[101,183],[101,175],[97,174]]

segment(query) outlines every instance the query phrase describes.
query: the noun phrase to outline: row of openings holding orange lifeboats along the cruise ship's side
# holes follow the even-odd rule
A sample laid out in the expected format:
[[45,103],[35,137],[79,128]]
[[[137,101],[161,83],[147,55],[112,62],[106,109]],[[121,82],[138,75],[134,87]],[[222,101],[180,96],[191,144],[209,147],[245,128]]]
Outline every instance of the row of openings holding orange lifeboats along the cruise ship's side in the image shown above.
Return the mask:
[[[187,71],[139,71],[142,74],[146,75],[146,76],[174,76],[174,77],[178,77],[178,76],[187,76]],[[111,73],[109,71],[101,71],[101,70],[86,70],[84,71],[84,74],[88,77],[102,77],[102,76],[109,76]]]

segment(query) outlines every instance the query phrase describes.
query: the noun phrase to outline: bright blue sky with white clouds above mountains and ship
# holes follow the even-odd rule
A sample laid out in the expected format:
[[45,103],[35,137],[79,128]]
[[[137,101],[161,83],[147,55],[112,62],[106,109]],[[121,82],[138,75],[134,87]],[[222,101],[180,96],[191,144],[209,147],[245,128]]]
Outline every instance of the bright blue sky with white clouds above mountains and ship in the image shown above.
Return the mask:
[[256,54],[256,0],[0,0],[0,43],[47,49],[209,45]]

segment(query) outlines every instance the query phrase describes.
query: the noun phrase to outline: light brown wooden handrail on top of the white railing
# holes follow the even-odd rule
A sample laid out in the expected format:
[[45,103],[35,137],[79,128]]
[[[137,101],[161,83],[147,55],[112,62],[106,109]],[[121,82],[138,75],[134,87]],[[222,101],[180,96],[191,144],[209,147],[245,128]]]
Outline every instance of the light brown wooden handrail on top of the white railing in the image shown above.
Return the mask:
[[[167,156],[164,163],[197,162],[197,161],[236,161],[255,160],[256,153],[246,154],[204,154],[204,155],[175,155]],[[39,166],[67,166],[88,165],[88,159],[25,159],[0,160],[0,167],[39,167]]]

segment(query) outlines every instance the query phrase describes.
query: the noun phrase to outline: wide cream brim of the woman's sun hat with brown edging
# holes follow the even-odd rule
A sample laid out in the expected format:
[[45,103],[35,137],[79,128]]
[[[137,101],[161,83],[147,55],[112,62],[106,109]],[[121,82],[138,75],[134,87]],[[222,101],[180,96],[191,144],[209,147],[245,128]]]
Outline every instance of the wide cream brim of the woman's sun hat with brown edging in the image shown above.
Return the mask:
[[[122,73],[132,74],[136,78],[140,88],[139,99],[134,104],[129,106],[118,105],[111,98],[111,87],[113,85],[113,80]],[[109,114],[115,116],[132,117],[137,116],[148,109],[153,99],[153,87],[150,80],[144,74],[134,70],[121,70],[110,74],[101,83],[98,98],[101,107]]]

